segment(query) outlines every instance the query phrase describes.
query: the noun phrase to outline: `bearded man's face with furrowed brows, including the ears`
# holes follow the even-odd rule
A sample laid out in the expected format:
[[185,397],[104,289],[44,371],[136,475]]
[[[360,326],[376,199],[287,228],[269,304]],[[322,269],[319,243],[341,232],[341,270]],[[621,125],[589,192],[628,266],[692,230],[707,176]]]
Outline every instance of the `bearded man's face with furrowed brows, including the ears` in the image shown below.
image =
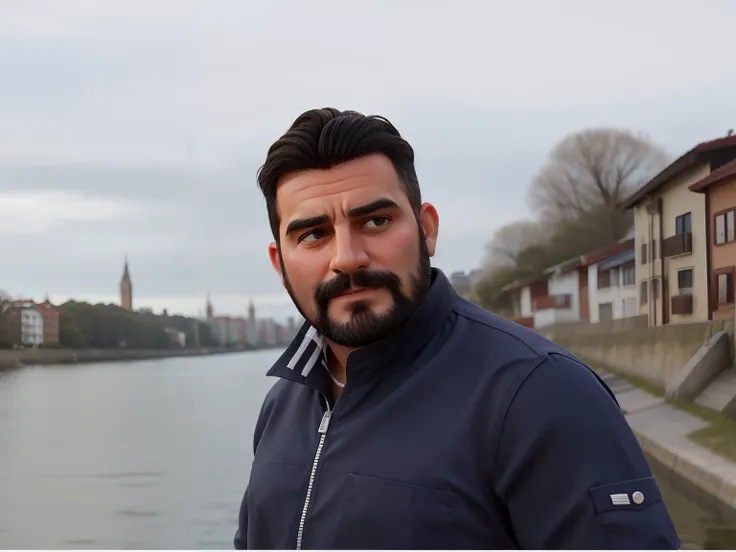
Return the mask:
[[439,220],[425,203],[417,222],[386,156],[286,175],[276,205],[271,263],[322,335],[362,347],[407,322],[429,287]]

